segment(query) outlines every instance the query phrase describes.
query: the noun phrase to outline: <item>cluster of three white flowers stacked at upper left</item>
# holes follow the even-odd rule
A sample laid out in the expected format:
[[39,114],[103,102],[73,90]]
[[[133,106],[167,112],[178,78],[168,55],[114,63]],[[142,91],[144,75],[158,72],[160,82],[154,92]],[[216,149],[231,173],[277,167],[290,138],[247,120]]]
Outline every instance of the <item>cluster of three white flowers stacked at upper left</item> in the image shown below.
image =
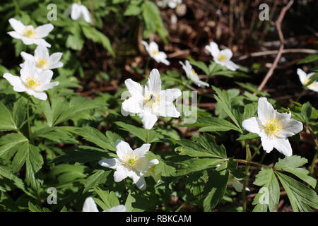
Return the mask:
[[34,28],[33,25],[23,25],[19,20],[11,18],[8,20],[14,31],[8,32],[11,37],[22,40],[24,44],[37,44],[34,56],[26,52],[21,52],[25,60],[20,64],[20,76],[13,76],[11,73],[5,73],[4,78],[13,85],[16,92],[26,92],[40,100],[47,100],[45,90],[49,90],[59,82],[51,83],[53,71],[63,66],[59,62],[62,53],[54,53],[49,56],[47,47],[51,44],[44,40],[54,28],[50,23]]

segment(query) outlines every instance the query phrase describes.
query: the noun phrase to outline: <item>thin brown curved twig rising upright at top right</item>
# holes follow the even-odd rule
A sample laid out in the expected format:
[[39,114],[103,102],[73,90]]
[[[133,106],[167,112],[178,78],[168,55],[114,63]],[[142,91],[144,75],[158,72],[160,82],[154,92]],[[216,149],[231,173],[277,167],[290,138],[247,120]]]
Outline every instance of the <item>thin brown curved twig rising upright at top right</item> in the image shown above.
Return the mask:
[[275,61],[273,62],[273,65],[271,66],[271,69],[269,69],[269,71],[266,73],[266,76],[265,76],[264,80],[261,82],[261,85],[259,85],[259,88],[258,88],[259,91],[261,91],[264,88],[264,86],[266,85],[267,81],[269,81],[269,78],[271,78],[273,71],[276,69],[278,61],[281,59],[281,54],[283,53],[283,49],[284,49],[284,37],[283,37],[283,32],[281,31],[281,23],[283,21],[285,13],[288,11],[288,8],[290,8],[290,6],[293,4],[293,2],[294,2],[293,0],[289,1],[287,6],[283,7],[283,9],[281,10],[281,13],[278,16],[278,19],[276,20],[275,24],[276,24],[276,28],[278,30],[279,40],[281,40],[281,47],[279,47],[279,49],[278,49],[278,54],[276,56]]

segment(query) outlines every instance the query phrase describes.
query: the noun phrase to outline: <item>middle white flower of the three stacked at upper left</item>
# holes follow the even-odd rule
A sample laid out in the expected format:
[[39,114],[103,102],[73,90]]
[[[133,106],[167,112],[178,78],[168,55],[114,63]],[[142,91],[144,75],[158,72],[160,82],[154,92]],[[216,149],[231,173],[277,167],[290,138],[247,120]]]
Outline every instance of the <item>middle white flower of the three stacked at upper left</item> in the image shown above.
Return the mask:
[[[56,52],[49,56],[49,50],[42,44],[37,46],[34,56],[26,52],[21,52],[21,57],[25,61],[33,61],[40,71],[57,69],[63,66],[63,63],[59,61],[62,55],[61,52]],[[20,64],[20,67],[22,68],[23,64]]]

